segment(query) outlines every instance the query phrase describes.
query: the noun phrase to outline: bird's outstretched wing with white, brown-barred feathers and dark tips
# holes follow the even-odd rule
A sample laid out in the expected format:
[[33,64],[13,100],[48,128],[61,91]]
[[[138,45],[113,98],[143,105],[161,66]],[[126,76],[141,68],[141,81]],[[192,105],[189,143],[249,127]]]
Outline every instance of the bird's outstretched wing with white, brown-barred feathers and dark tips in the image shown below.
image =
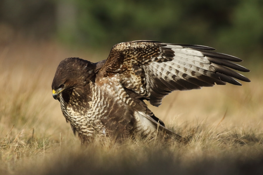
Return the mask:
[[119,43],[113,46],[98,73],[105,77],[117,75],[124,88],[155,106],[174,90],[200,89],[226,82],[241,85],[236,79],[250,82],[233,71],[249,72],[233,63],[241,59],[211,50],[215,49],[155,41]]

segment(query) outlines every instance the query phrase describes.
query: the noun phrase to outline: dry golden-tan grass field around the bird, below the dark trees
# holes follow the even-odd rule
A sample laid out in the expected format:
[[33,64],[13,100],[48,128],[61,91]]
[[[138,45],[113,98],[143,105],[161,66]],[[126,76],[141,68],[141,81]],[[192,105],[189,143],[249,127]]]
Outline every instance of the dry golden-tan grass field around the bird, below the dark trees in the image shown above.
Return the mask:
[[245,74],[251,83],[173,92],[150,107],[168,128],[191,137],[188,144],[105,139],[81,146],[52,98],[51,83],[62,59],[96,62],[107,55],[46,41],[0,46],[0,174],[263,172],[263,77],[247,58],[242,65],[252,70]]

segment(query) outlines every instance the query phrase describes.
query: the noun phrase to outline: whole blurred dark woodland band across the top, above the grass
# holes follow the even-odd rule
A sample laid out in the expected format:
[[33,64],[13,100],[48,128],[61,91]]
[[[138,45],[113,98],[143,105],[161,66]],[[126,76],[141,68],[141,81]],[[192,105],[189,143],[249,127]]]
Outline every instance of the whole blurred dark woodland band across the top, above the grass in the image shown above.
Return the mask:
[[132,40],[199,44],[261,60],[261,0],[1,0],[1,45],[23,36],[71,48]]

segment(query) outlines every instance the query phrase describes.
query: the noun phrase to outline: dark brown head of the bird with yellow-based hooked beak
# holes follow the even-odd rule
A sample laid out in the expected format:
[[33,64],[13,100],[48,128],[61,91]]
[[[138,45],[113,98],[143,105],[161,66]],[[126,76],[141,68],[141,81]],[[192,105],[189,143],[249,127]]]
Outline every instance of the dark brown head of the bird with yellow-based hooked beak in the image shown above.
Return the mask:
[[62,60],[56,70],[51,88],[53,98],[59,99],[61,92],[85,86],[94,78],[94,64],[80,58]]

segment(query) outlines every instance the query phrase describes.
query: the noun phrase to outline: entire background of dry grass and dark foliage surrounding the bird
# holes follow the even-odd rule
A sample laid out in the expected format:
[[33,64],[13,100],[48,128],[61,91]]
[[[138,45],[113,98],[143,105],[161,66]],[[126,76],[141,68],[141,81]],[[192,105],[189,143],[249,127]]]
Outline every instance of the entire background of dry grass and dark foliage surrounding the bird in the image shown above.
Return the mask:
[[[52,97],[56,67],[66,57],[104,60],[132,40],[216,48],[244,60],[251,82],[172,92],[150,106],[170,129],[193,135],[186,146],[83,148]],[[0,174],[242,174],[245,165],[259,174],[262,55],[262,0],[0,0]]]

